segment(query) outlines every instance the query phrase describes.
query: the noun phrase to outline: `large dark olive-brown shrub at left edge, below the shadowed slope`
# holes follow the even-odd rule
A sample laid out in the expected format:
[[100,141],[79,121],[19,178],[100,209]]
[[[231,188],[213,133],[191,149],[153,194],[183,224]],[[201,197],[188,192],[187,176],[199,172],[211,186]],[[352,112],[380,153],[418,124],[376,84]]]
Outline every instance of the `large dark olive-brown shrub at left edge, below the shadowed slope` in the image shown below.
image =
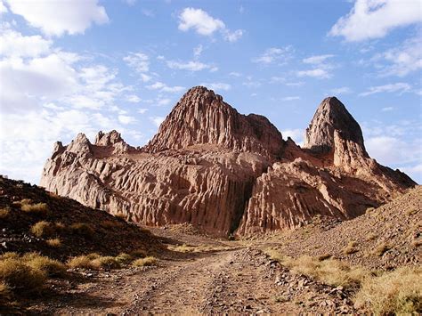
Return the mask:
[[38,292],[43,288],[45,280],[45,271],[29,266],[21,258],[0,260],[0,282],[14,291]]

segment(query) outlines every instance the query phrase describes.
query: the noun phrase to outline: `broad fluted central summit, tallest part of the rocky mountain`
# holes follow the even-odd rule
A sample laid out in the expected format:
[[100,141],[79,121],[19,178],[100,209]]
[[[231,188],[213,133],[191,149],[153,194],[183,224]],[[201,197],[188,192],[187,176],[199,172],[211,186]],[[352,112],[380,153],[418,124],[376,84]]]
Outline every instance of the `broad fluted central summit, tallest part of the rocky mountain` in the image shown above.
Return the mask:
[[198,86],[183,95],[143,150],[179,150],[199,144],[279,157],[283,139],[266,117],[241,115],[221,95]]

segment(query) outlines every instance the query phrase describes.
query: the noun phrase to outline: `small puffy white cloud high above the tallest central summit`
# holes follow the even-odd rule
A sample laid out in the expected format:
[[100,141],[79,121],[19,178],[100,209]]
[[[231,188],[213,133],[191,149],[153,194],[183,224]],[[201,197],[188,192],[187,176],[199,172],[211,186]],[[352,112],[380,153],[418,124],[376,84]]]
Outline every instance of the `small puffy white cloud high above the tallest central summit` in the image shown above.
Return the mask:
[[223,34],[223,38],[229,42],[236,42],[243,35],[242,29],[231,31],[223,20],[215,19],[201,9],[185,8],[179,15],[179,29],[186,32],[190,29],[202,36],[211,36],[216,31]]

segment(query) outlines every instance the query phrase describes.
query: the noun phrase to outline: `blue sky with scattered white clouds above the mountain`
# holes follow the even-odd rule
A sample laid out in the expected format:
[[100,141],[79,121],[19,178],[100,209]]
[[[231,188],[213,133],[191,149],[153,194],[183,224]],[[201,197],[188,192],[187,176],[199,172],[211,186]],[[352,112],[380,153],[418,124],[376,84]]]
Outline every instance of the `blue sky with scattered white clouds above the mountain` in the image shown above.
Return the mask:
[[303,142],[336,95],[369,155],[422,182],[422,2],[0,0],[0,174],[117,129],[142,145],[207,85]]

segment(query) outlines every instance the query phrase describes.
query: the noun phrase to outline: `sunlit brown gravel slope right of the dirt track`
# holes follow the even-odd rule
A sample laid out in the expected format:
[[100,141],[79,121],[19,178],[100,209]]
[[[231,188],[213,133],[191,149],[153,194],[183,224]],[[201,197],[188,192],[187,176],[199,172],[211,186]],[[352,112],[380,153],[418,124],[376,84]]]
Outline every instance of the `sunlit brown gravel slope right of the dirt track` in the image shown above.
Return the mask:
[[263,247],[285,255],[333,257],[371,269],[422,263],[422,186],[365,215],[345,222],[318,218],[295,231],[267,236]]

